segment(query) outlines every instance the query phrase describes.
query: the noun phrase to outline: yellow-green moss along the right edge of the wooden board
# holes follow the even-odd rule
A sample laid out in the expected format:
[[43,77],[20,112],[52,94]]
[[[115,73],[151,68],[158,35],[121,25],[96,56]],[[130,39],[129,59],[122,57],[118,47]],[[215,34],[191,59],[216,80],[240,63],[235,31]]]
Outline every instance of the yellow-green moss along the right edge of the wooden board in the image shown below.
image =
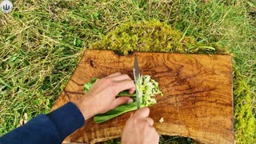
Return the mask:
[[235,139],[238,143],[255,143],[256,121],[252,111],[250,87],[235,64],[233,65],[233,87]]

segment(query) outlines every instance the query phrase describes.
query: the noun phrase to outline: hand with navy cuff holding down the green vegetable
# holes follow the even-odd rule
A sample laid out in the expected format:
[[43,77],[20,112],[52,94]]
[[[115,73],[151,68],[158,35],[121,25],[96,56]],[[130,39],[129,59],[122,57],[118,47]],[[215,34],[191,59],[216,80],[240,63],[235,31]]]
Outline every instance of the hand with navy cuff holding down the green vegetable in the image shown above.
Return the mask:
[[85,119],[95,114],[103,114],[125,103],[133,102],[133,98],[115,98],[123,90],[135,91],[134,81],[127,74],[115,73],[98,79],[94,86],[82,98],[74,101]]

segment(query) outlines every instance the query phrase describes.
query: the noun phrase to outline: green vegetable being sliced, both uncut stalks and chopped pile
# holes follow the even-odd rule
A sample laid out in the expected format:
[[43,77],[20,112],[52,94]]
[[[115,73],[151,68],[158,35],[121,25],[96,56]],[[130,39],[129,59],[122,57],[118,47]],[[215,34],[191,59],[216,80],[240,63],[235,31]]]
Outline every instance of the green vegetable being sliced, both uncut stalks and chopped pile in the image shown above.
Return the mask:
[[[87,82],[84,85],[84,90],[87,93],[90,88],[97,81],[97,78],[92,78],[91,82]],[[156,103],[154,96],[156,94],[161,94],[162,92],[159,90],[158,82],[155,82],[154,79],[150,78],[150,75],[144,75],[138,78],[138,93],[141,94],[141,107],[152,106]],[[101,123],[110,120],[111,118],[115,118],[118,115],[124,114],[126,112],[136,110],[137,102],[136,102],[136,93],[129,94],[128,90],[122,91],[118,94],[118,97],[128,96],[134,98],[134,102],[127,103],[122,106],[116,107],[114,110],[110,110],[105,114],[98,114],[94,116],[94,122]]]

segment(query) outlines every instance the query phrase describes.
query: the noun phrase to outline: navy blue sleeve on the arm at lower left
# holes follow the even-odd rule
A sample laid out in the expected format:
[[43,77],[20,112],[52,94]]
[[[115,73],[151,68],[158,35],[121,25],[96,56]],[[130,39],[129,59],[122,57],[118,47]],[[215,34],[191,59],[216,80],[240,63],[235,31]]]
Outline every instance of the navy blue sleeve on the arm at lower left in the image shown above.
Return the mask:
[[3,135],[0,144],[62,143],[68,135],[84,124],[81,111],[72,102],[68,102],[50,114],[40,114],[25,125]]

